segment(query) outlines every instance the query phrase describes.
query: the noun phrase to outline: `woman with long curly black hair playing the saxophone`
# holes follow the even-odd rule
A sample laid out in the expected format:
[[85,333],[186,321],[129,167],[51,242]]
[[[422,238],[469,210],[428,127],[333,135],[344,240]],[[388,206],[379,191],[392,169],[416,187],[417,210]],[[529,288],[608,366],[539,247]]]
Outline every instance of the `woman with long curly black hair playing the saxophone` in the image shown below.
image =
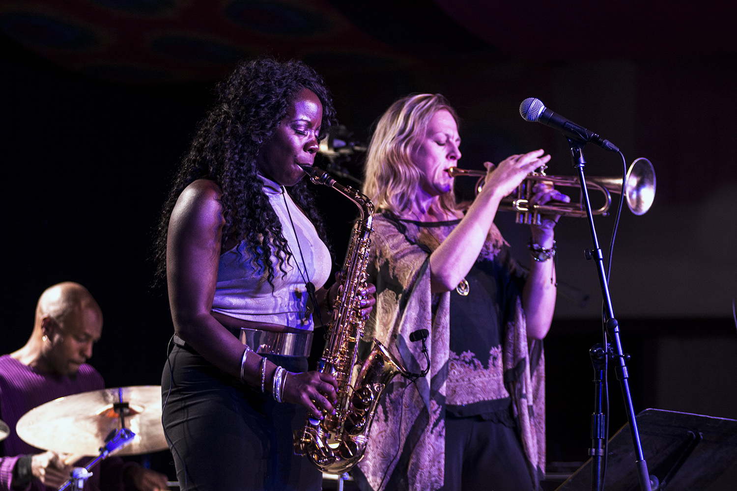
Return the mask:
[[175,331],[163,423],[183,490],[321,489],[293,431],[306,412],[332,413],[337,388],[307,370],[312,311],[332,306],[338,286],[322,288],[332,261],[303,182],[334,116],[311,68],[242,63],[179,170],[158,257]]

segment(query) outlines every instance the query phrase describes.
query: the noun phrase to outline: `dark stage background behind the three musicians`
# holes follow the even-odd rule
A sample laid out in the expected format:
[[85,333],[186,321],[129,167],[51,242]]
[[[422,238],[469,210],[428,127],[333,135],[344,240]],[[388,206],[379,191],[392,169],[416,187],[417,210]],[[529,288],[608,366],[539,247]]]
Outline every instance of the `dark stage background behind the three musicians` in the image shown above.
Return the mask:
[[[737,418],[730,8],[398,3],[0,4],[0,353],[24,344],[43,289],[74,280],[105,314],[91,364],[106,384],[160,384],[172,324],[165,289],[153,286],[158,213],[214,82],[234,60],[268,53],[324,74],[340,123],[360,141],[399,96],[441,92],[464,121],[462,166],[542,147],[553,155],[549,174],[573,174],[562,136],[518,116],[537,96],[615,142],[629,163],[649,158],[655,203],[644,216],[624,211],[610,283],[635,409]],[[587,147],[586,156],[587,174],[620,171],[615,155]],[[360,174],[360,156],[350,169]],[[340,263],[352,205],[319,192]],[[528,230],[511,219],[497,223],[528,264]],[[596,219],[605,254],[612,222]],[[585,222],[564,218],[556,230],[559,280],[590,295],[584,307],[559,297],[545,341],[548,461],[576,462],[590,445],[587,352],[600,337],[601,292],[582,253]],[[613,375],[610,392],[613,433],[625,420]],[[173,476],[165,454],[152,465]],[[729,480],[710,489],[732,489]]]

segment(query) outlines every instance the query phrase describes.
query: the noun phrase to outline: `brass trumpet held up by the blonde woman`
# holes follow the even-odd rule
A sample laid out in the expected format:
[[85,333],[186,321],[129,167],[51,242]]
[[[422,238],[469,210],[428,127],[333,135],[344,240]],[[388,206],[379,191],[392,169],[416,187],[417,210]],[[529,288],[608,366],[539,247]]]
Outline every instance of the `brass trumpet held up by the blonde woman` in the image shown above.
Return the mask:
[[[516,212],[517,218],[515,221],[517,223],[535,225],[539,225],[541,214],[586,218],[586,211],[584,210],[582,199],[579,199],[577,203],[530,205],[532,188],[539,181],[551,183],[553,186],[567,186],[571,188],[579,188],[581,186],[579,177],[547,175],[545,174],[545,167],[540,167],[539,172],[528,174],[525,180],[520,183],[520,186],[517,186],[517,191],[513,191],[508,197],[502,199],[498,209],[501,211]],[[450,174],[450,177],[479,177],[476,183],[476,194],[481,191],[485,182],[484,177],[486,177],[486,172],[484,171],[458,169],[458,167],[451,167],[447,172]],[[624,179],[624,191],[622,183],[622,178],[618,176],[587,178],[587,189],[601,191],[604,194],[604,205],[592,210],[594,215],[607,216],[609,214],[609,206],[612,204],[610,193],[624,193],[627,206],[635,215],[643,215],[650,209],[655,197],[655,170],[650,160],[641,157],[632,162]]]

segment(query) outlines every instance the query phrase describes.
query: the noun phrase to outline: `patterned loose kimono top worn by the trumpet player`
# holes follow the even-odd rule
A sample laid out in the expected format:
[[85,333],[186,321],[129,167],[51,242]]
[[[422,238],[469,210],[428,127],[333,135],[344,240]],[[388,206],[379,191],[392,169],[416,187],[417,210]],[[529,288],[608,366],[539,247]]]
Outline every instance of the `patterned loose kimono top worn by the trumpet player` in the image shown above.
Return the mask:
[[376,491],[438,490],[444,482],[446,414],[506,423],[499,415],[510,414],[509,406],[508,419],[514,420],[520,435],[532,480],[544,477],[542,342],[528,343],[517,264],[497,227],[489,230],[467,279],[470,288],[493,292],[496,305],[485,307],[490,312],[486,315],[498,321],[480,326],[485,314],[471,312],[467,322],[453,326],[459,332],[452,340],[451,295],[456,297],[454,322],[464,316],[464,300],[455,291],[430,292],[430,253],[458,222],[411,222],[388,213],[374,216],[368,272],[377,286],[377,304],[366,340],[380,340],[409,371],[419,373],[427,364],[422,343],[411,342],[409,336],[425,328],[430,332],[426,340],[430,371],[415,382],[397,376],[385,389],[366,454],[354,470],[364,488],[368,484]]

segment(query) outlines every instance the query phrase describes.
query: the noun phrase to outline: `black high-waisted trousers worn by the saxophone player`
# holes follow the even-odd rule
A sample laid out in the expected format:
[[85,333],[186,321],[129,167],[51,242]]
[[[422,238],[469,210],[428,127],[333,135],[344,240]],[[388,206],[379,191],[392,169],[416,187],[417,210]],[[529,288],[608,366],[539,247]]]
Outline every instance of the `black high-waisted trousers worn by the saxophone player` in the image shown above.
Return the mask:
[[[290,372],[307,358],[267,355]],[[294,454],[306,409],[277,403],[194,350],[175,346],[161,376],[162,417],[182,491],[318,491],[322,474]]]

